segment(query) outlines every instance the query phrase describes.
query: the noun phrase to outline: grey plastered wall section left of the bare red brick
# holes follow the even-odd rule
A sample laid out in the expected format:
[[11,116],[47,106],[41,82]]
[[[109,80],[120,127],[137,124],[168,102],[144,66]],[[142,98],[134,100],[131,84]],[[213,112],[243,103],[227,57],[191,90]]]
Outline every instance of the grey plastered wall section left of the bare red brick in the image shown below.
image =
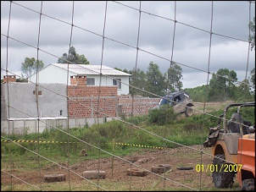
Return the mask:
[[[66,85],[64,84],[39,84],[38,91],[42,95],[38,96],[38,112],[36,85],[31,83],[8,83],[1,84],[1,95],[4,96],[5,104],[10,103],[10,107],[1,104],[1,110],[7,110],[8,118],[37,118],[40,117],[67,117]],[[7,90],[8,89],[8,90]],[[60,114],[62,111],[62,114]]]

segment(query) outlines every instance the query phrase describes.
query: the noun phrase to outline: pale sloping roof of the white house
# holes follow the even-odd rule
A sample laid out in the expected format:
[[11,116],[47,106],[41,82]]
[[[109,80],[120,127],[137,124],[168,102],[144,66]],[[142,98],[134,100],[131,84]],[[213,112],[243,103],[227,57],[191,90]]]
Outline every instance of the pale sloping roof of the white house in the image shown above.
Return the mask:
[[[51,63],[52,65],[68,70],[68,63]],[[127,74],[117,69],[109,68],[105,65],[92,65],[92,64],[69,64],[69,70],[75,74],[100,74],[103,75],[120,75],[127,76]]]

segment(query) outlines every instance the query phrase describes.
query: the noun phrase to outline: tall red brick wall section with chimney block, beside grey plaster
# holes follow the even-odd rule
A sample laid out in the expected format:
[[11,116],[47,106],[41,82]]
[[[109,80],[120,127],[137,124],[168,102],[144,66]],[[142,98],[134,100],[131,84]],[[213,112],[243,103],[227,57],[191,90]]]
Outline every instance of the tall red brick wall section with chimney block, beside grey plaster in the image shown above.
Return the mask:
[[117,86],[86,86],[86,76],[71,78],[70,84],[68,86],[70,118],[117,116]]

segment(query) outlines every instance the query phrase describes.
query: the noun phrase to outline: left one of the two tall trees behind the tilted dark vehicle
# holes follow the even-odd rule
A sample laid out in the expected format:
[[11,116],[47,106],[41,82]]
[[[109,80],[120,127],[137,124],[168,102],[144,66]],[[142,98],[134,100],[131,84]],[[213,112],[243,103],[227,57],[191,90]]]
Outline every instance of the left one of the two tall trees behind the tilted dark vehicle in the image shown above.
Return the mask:
[[[147,85],[145,90],[158,96],[164,96],[166,91],[166,82],[164,75],[159,70],[157,63],[150,62],[146,73]],[[145,93],[147,96],[152,94]]]

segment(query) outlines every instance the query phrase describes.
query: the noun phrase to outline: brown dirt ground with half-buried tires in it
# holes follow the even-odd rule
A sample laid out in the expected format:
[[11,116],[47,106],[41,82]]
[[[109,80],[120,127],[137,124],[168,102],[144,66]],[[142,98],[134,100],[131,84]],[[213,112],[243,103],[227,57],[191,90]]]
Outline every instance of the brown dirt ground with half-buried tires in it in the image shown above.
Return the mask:
[[[200,150],[203,150],[201,152]],[[143,149],[129,156],[114,156],[89,160],[88,156],[82,156],[79,164],[70,165],[70,173],[66,168],[67,163],[52,163],[41,167],[40,170],[25,171],[22,167],[13,165],[13,174],[10,178],[8,167],[2,167],[1,190],[9,190],[13,184],[14,190],[36,190],[25,182],[35,185],[44,191],[54,190],[109,190],[109,191],[148,191],[148,190],[215,190],[210,171],[206,166],[212,163],[212,156],[209,156],[210,148],[202,148],[201,145],[189,147],[177,147],[175,149]],[[36,161],[35,161],[36,163]],[[198,168],[204,166],[203,172]],[[201,165],[201,166],[200,166]],[[152,167],[170,166],[166,173],[153,173]],[[179,167],[191,167],[192,170],[179,170]],[[85,171],[99,170],[105,172],[102,179],[83,179],[81,176]],[[127,171],[139,171],[145,173],[143,177],[129,176]],[[147,170],[147,171],[146,171]],[[129,173],[128,171],[128,173]],[[63,182],[46,183],[44,176],[48,174],[64,174],[66,180]],[[164,179],[165,175],[165,179]],[[25,182],[24,182],[25,181]],[[229,189],[219,189],[229,190]],[[237,178],[232,190],[239,190]]]

